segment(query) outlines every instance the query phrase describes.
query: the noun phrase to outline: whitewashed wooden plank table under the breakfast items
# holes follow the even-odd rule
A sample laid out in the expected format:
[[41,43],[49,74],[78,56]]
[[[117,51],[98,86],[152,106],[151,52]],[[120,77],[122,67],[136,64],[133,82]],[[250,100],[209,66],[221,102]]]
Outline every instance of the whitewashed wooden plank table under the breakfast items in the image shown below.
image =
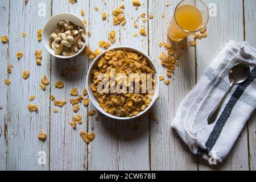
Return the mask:
[[[171,84],[160,84],[160,98],[156,101],[153,112],[157,122],[144,115],[142,119],[131,121],[138,125],[136,129],[129,127],[131,123],[113,121],[102,117],[88,117],[88,110],[81,106],[82,125],[73,130],[69,126],[75,115],[69,102],[53,113],[51,94],[58,100],[69,100],[71,88],[85,87],[85,76],[91,60],[79,56],[69,61],[55,59],[44,49],[43,43],[36,39],[36,32],[43,28],[47,19],[54,14],[69,12],[81,17],[80,10],[85,10],[81,17],[88,22],[88,30],[92,36],[88,38],[91,49],[98,48],[100,40],[108,40],[111,30],[117,32],[117,41],[113,46],[132,46],[148,53],[154,60],[162,75],[166,69],[160,65],[158,56],[164,51],[159,42],[170,42],[167,38],[167,26],[174,8],[179,0],[153,1],[140,0],[143,6],[135,10],[131,0],[89,1],[77,0],[72,5],[68,0],[29,0],[25,6],[19,1],[0,1],[1,28],[0,36],[7,35],[9,43],[2,44],[0,61],[0,169],[1,170],[255,170],[256,169],[256,114],[247,122],[233,150],[222,164],[209,166],[207,162],[192,155],[187,146],[170,127],[175,111],[180,102],[195,86],[205,69],[229,40],[242,42],[246,40],[256,47],[256,14],[255,0],[205,0],[207,5],[216,4],[217,16],[210,17],[208,38],[197,42],[196,47],[183,51],[180,67],[176,69]],[[124,27],[113,26],[112,10],[125,4],[127,23]],[[166,3],[171,6],[166,7]],[[213,5],[213,4],[212,4]],[[98,12],[94,7],[98,6]],[[110,14],[107,21],[101,20],[101,13]],[[44,14],[45,13],[45,14]],[[134,28],[134,19],[142,13],[153,14],[154,19]],[[165,18],[162,18],[162,15]],[[133,19],[131,19],[133,18]],[[147,36],[138,35],[144,24]],[[22,32],[27,36],[23,38]],[[35,63],[35,49],[43,49],[42,65]],[[24,52],[22,59],[16,59],[16,52]],[[10,64],[14,65],[13,73],[7,74]],[[79,71],[72,71],[66,77],[60,73],[64,68],[73,65]],[[30,77],[23,80],[22,72],[30,69]],[[40,79],[46,75],[51,81],[46,91],[39,87]],[[4,79],[9,78],[11,84],[6,86]],[[55,81],[63,81],[64,88],[56,89]],[[31,94],[36,96],[31,103],[38,105],[38,113],[30,113],[27,105]],[[40,130],[47,133],[46,142],[38,140]],[[94,131],[96,138],[86,144],[79,131]],[[38,152],[46,152],[46,164],[38,164]]]

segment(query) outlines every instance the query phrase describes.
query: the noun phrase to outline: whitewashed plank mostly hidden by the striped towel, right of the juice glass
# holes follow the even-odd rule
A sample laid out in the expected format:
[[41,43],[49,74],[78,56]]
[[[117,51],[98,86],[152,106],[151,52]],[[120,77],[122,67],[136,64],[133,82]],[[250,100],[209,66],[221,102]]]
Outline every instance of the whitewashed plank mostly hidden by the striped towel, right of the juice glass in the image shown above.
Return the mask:
[[[217,16],[211,17],[208,23],[208,38],[197,42],[197,77],[203,76],[205,69],[212,63],[214,57],[218,55],[229,40],[237,42],[243,41],[243,2],[206,0],[217,5]],[[224,28],[225,27],[225,28]],[[247,170],[248,151],[247,151],[247,130],[243,129],[233,150],[222,164],[209,166],[207,162],[199,160],[200,170]]]

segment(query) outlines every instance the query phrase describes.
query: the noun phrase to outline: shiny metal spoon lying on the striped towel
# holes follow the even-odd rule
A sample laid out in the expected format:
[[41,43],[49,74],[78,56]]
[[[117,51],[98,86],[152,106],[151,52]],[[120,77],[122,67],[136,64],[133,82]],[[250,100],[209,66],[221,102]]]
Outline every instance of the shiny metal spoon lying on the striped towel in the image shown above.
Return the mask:
[[230,72],[229,72],[229,81],[231,83],[230,87],[229,87],[228,91],[226,92],[226,94],[224,95],[224,97],[222,97],[222,99],[218,103],[218,105],[213,109],[212,113],[210,113],[210,115],[207,119],[208,125],[215,122],[215,120],[218,116],[218,113],[220,112],[221,107],[224,104],[224,101],[225,101],[226,97],[228,97],[228,94],[232,90],[233,86],[237,85],[237,84],[241,84],[242,82],[247,80],[249,75],[250,75],[250,67],[245,63],[238,63],[230,69]]

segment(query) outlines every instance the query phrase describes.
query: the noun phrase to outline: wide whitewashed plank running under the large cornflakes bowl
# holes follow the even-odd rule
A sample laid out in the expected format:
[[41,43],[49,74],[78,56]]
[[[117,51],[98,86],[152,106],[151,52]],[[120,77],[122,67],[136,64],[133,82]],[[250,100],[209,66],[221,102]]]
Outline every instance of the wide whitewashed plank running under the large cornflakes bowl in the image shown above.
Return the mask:
[[[138,10],[132,5],[131,1],[90,1],[90,26],[92,37],[89,39],[89,47],[93,50],[98,48],[100,40],[108,41],[109,32],[115,30],[116,42],[114,46],[131,46],[148,52],[148,36],[139,35],[141,19],[138,28],[133,27],[134,19],[142,13],[147,13],[147,1],[140,1],[142,6]],[[125,16],[127,23],[124,27],[113,26],[112,11],[125,4]],[[98,12],[93,8],[97,6]],[[109,14],[108,20],[102,21],[101,14],[105,11]],[[131,19],[133,18],[133,19]],[[145,23],[147,30],[147,23]],[[138,37],[134,37],[134,32]],[[89,109],[93,109],[89,105]],[[150,169],[148,158],[148,117],[144,115],[141,122],[135,122],[138,129],[130,129],[127,121],[114,121],[113,119],[101,117],[101,121],[95,121],[94,117],[89,117],[88,130],[94,130],[96,138],[89,144],[88,169],[89,170],[146,170]],[[113,132],[114,131],[114,132]]]

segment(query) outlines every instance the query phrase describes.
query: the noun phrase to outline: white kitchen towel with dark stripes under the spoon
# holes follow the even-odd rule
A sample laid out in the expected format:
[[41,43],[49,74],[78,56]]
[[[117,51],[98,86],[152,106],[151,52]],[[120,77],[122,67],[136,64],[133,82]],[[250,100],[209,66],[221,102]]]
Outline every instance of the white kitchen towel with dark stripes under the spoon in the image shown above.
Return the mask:
[[[228,90],[229,71],[237,63],[250,66],[250,77],[242,84],[234,86],[216,122],[208,125],[207,118]],[[229,42],[181,103],[171,126],[193,154],[218,162],[222,162],[229,154],[256,107],[255,67],[255,48],[246,42]]]

